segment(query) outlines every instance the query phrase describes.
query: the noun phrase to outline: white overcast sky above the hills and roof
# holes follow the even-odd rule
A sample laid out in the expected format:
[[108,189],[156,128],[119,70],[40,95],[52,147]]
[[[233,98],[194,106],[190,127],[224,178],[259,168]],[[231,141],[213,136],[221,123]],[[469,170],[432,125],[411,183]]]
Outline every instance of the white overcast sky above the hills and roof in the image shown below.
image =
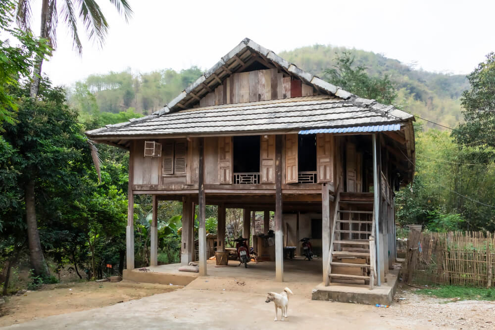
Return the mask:
[[275,52],[330,44],[462,74],[495,50],[492,0],[129,0],[129,24],[98,2],[110,25],[105,45],[85,42],[79,57],[60,21],[58,48],[43,67],[55,84],[126,68],[207,69],[246,37]]

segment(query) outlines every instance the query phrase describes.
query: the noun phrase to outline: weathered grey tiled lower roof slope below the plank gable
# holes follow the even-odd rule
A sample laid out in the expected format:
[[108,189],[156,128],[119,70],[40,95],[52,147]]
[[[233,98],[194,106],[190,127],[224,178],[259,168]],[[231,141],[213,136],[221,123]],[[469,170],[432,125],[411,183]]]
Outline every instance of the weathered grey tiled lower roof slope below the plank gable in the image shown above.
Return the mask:
[[[87,132],[90,138],[195,135],[397,124],[413,116],[374,100],[329,95],[193,108]],[[143,120],[144,119],[144,120]]]

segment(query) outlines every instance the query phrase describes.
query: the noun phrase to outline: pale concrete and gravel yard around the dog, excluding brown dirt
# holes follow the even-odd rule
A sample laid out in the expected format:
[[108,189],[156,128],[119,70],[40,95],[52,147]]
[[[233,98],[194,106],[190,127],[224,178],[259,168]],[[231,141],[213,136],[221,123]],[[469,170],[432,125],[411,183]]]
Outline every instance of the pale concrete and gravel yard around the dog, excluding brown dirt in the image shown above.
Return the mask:
[[[289,317],[274,322],[266,292],[294,291]],[[2,329],[493,329],[494,304],[443,303],[400,292],[390,308],[311,300],[308,287],[268,280],[198,277],[184,289]],[[280,312],[278,313],[280,318]]]

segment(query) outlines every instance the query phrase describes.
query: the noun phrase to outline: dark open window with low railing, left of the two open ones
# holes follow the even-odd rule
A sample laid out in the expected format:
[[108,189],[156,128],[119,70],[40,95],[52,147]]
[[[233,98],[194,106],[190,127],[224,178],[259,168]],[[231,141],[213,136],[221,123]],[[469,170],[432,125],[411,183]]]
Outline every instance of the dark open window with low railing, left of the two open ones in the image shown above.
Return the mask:
[[233,137],[234,184],[259,184],[259,136]]

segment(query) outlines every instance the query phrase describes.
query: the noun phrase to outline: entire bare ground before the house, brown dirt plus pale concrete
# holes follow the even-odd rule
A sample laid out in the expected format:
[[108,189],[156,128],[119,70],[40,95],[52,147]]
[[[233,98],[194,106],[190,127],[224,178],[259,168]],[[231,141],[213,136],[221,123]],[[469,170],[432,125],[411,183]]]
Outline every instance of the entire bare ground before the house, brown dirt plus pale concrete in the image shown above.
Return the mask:
[[[19,322],[12,322],[7,315],[0,317],[0,325],[15,323],[9,329],[40,330],[124,327],[284,330],[495,328],[495,302],[452,302],[417,295],[413,288],[400,284],[394,304],[389,308],[313,301],[310,299],[311,290],[308,291],[306,285],[259,279],[204,277],[176,290],[167,285],[125,281],[101,285],[100,288],[99,283],[78,283],[74,287],[29,292],[26,296],[15,297],[8,304],[16,309],[12,315],[18,315],[16,320]],[[265,303],[266,292],[281,291],[286,285],[295,293],[290,297],[289,317],[285,322],[274,322],[274,306]],[[141,298],[171,290],[174,291]],[[131,299],[138,300],[127,301]],[[117,303],[121,300],[126,301]],[[95,309],[70,313],[90,308]],[[60,313],[70,314],[55,315]],[[24,318],[19,315],[24,315]],[[48,315],[53,316],[44,317]]]

